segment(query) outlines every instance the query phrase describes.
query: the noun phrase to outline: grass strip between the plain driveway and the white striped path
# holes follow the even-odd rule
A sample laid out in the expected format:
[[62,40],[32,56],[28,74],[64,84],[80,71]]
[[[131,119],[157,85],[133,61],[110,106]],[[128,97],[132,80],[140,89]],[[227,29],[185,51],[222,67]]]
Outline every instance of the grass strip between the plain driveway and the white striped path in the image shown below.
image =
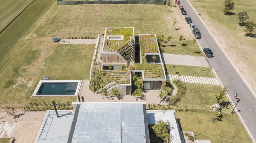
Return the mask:
[[[189,76],[202,76],[215,78],[211,68],[209,67],[197,67],[197,66],[185,66],[185,65],[175,65],[175,69],[172,64],[165,64],[168,74],[180,74]],[[179,73],[176,73],[179,72]]]

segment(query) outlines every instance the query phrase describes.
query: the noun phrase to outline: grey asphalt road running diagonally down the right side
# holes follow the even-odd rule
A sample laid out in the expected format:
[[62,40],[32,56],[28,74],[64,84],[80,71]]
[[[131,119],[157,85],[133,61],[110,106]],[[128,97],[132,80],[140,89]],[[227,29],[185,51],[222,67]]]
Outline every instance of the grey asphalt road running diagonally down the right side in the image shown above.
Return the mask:
[[[215,69],[222,84],[229,85],[228,90],[229,96],[236,103],[233,97],[234,93],[241,95],[241,100],[237,104],[237,109],[240,110],[240,114],[246,123],[248,129],[256,139],[256,98],[249,90],[247,85],[241,79],[239,74],[236,72],[232,64],[229,62],[225,54],[222,52],[220,47],[217,45],[213,37],[210,35],[206,27],[198,18],[197,14],[192,9],[191,5],[186,0],[180,0],[181,5],[184,6],[187,15],[185,17],[191,17],[192,22],[199,28],[202,38],[198,39],[198,42],[202,48],[210,48],[213,51],[213,58],[208,58],[210,64]],[[189,29],[188,29],[189,30]],[[228,54],[228,53],[227,53]],[[252,75],[255,76],[255,75]],[[230,109],[230,112],[232,109]],[[225,118],[225,117],[224,117]],[[235,124],[235,123],[234,123]]]

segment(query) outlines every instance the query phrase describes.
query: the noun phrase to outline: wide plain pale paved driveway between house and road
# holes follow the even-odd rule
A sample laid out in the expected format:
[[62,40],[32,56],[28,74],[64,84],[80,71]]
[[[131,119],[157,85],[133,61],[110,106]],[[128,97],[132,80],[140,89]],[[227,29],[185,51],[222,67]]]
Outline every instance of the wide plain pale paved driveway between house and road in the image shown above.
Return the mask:
[[163,53],[162,55],[166,64],[209,67],[208,62],[204,57],[168,53]]

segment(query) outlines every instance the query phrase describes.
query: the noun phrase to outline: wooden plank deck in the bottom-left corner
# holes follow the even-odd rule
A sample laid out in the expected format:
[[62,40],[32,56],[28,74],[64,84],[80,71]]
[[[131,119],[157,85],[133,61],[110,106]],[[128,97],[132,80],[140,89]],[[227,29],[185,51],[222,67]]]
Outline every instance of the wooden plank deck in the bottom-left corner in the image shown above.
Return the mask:
[[42,121],[17,122],[10,137],[15,137],[15,143],[34,143],[42,123]]

